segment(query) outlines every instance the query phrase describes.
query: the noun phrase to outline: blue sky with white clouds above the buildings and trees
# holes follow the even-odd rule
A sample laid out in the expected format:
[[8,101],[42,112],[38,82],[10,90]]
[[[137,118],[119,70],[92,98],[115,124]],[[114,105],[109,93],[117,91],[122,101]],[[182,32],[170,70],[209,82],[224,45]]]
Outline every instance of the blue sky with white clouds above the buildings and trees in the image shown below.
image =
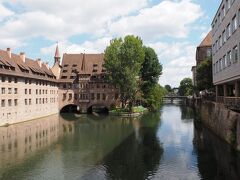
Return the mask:
[[196,47],[221,0],[0,0],[0,49],[53,65],[63,53],[103,53],[111,39],[140,36],[163,65],[161,85],[191,77]]

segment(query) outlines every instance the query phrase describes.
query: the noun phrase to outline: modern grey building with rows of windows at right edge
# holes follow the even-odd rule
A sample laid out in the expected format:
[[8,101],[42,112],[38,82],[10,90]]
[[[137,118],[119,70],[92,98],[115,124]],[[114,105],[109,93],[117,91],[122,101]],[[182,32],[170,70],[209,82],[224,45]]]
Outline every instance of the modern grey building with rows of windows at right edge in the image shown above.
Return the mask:
[[240,109],[240,0],[222,0],[212,21],[213,83],[216,100]]

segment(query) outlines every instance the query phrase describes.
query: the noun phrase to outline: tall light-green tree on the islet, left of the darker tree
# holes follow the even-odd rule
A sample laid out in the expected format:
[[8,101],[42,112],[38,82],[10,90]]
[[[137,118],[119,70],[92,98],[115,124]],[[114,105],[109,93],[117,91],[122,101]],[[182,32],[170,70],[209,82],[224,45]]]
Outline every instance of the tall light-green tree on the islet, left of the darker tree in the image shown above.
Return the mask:
[[113,39],[105,50],[106,78],[120,91],[122,107],[129,103],[131,108],[133,104],[143,61],[144,49],[139,37]]

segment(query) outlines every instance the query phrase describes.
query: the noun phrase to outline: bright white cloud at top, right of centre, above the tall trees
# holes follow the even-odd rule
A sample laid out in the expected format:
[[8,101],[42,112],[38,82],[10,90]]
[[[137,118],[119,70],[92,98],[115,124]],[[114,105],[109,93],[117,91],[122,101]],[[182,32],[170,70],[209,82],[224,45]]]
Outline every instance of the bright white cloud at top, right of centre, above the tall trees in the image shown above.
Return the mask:
[[142,9],[137,15],[113,22],[109,29],[114,35],[137,34],[151,40],[163,36],[184,38],[191,29],[190,25],[201,16],[200,6],[191,0],[166,0]]

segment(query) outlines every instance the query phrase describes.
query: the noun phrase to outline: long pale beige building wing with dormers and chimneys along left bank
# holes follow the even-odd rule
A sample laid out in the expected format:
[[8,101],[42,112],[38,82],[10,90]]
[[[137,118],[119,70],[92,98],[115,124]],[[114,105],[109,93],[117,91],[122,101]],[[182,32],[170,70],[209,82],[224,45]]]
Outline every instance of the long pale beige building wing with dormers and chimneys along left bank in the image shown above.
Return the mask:
[[57,79],[48,64],[0,50],[0,126],[56,113]]

